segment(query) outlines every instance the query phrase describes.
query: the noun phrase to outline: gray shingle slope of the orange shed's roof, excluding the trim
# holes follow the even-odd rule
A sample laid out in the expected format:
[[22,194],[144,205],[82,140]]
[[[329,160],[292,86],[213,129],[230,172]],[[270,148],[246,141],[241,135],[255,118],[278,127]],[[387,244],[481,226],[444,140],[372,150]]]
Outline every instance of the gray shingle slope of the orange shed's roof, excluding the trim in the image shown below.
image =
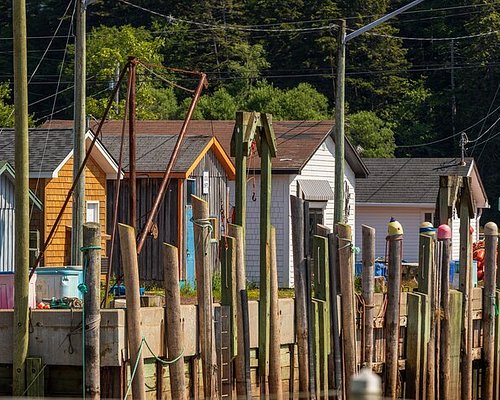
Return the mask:
[[[30,129],[30,177],[51,174],[73,149],[72,129]],[[0,132],[0,159],[14,165],[14,129]]]

